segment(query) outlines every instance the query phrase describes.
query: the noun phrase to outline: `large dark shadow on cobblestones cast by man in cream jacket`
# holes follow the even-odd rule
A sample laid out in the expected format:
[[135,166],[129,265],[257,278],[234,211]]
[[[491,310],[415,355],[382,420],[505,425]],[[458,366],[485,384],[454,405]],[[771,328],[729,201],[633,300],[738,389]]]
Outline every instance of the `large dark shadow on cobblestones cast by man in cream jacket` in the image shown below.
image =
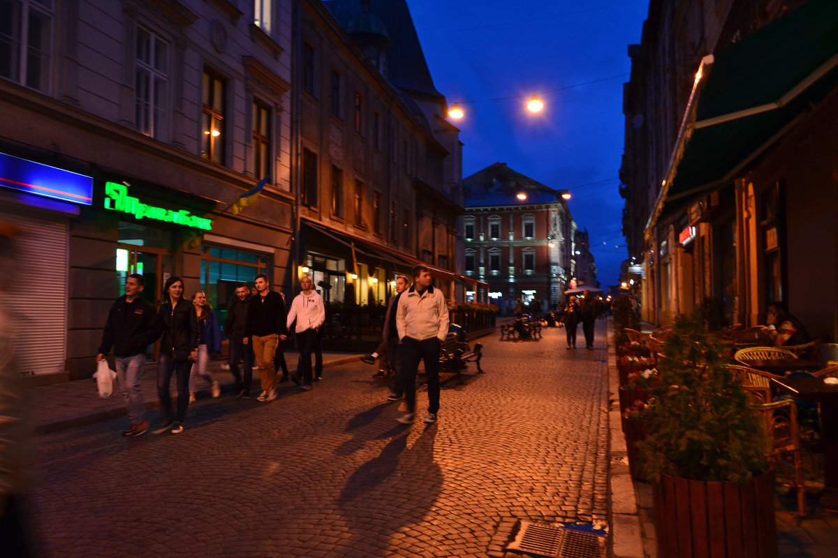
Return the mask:
[[433,458],[436,435],[436,424],[399,433],[346,480],[338,509],[349,536],[341,540],[343,548],[336,548],[336,555],[412,553],[394,535],[425,520],[439,498],[442,468]]

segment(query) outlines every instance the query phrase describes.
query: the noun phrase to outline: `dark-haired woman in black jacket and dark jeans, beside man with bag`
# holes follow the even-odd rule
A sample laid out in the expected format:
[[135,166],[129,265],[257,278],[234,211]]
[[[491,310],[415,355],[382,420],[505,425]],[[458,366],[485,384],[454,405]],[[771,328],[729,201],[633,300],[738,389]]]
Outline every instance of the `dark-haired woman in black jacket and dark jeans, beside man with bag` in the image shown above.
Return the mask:
[[[158,355],[158,397],[163,407],[163,422],[155,434],[170,430],[184,432],[186,407],[189,406],[189,370],[198,358],[198,316],[195,307],[184,299],[184,280],[169,277],[163,286],[163,303],[158,310],[158,328],[163,329]],[[177,414],[172,415],[172,372],[178,386]]]

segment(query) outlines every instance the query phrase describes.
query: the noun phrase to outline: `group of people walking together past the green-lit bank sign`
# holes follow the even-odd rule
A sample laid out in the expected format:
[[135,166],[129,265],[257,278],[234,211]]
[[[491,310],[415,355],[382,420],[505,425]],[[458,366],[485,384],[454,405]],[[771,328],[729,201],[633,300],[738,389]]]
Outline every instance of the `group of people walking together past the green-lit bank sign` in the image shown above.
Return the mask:
[[[277,370],[283,369],[281,381],[289,379],[282,351],[292,326],[301,360],[297,365],[297,376],[291,379],[303,390],[309,390],[312,381],[323,378],[320,331],[325,320],[325,306],[323,298],[313,289],[311,278],[303,276],[300,286],[302,291],[286,311],[285,299],[270,288],[266,274],[256,275],[256,293],[251,294],[246,283],[236,285],[235,296],[227,305],[225,322],[235,397],[251,397],[255,361],[261,383],[261,394],[256,399],[271,402],[277,398]],[[122,434],[142,435],[147,432],[148,420],[140,378],[148,346],[160,339],[157,388],[163,417],[153,433],[183,433],[186,411],[189,403],[194,402],[198,378],[203,377],[209,383],[213,397],[220,395],[219,383],[207,366],[209,356],[220,351],[220,326],[203,291],[196,292],[191,302],[184,299],[183,279],[170,277],[166,280],[158,308],[143,298],[144,288],[142,274],[127,277],[125,294],[116,299],[108,313],[96,362],[104,360],[113,350],[116,374],[131,422]],[[314,367],[312,356],[315,357]],[[244,365],[241,369],[240,361]],[[174,408],[170,392],[173,375],[178,393]]]

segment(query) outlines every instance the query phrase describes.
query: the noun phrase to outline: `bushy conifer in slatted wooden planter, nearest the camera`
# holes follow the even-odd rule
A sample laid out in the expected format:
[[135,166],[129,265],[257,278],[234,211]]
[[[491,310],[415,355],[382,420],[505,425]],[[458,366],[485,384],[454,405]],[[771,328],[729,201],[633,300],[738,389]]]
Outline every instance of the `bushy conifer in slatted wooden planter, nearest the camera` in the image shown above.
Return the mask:
[[680,315],[658,362],[642,474],[659,558],[777,556],[768,435],[704,320]]

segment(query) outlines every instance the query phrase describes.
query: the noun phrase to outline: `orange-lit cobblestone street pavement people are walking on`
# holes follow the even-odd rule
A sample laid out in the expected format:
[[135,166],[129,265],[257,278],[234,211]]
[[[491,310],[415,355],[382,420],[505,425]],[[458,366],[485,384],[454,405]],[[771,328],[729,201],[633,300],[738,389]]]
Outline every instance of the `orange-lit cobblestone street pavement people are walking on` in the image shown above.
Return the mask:
[[486,373],[443,376],[431,426],[397,424],[359,362],[272,403],[199,401],[178,435],[122,438],[124,418],[44,434],[37,539],[62,558],[504,556],[518,520],[604,522],[604,331],[594,351],[561,329],[480,339]]

